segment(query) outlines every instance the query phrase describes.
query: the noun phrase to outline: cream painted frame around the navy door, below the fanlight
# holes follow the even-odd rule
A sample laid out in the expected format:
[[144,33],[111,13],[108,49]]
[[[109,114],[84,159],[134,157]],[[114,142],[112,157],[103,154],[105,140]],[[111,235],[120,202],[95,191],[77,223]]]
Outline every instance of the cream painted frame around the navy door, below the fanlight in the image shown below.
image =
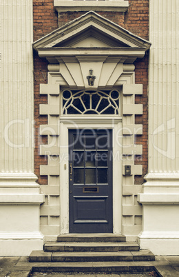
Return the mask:
[[68,130],[112,129],[113,150],[113,233],[122,229],[122,116],[61,116],[59,123],[60,147],[60,234],[69,234],[69,168]]

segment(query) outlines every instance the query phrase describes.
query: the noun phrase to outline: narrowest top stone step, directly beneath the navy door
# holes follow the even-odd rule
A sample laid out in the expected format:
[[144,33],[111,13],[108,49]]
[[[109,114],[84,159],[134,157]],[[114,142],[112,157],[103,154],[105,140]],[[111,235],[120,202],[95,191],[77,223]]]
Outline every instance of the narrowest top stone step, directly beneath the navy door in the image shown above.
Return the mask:
[[65,234],[57,237],[59,242],[113,242],[120,243],[125,242],[125,236],[121,234]]

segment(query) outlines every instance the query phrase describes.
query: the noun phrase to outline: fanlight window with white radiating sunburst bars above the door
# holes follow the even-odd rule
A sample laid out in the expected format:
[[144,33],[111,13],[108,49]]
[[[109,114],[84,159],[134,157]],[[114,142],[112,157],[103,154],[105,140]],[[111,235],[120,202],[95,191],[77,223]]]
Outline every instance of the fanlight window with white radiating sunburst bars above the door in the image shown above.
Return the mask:
[[63,114],[120,114],[120,91],[63,90]]

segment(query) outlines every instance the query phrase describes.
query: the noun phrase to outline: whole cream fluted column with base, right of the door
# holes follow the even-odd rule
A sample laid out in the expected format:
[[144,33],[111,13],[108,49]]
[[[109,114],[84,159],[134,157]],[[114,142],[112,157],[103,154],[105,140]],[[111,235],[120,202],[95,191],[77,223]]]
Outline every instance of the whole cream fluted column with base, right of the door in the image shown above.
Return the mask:
[[140,247],[179,254],[179,2],[149,1],[149,173]]

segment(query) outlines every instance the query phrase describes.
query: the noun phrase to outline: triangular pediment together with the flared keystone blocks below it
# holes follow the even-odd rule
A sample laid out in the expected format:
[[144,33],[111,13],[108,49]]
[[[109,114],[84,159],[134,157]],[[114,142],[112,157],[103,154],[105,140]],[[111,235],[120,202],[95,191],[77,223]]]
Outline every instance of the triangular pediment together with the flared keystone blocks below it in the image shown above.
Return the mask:
[[[90,11],[34,42],[33,48],[49,61],[48,70],[63,78],[63,85],[92,90],[113,88],[123,65],[129,64],[127,71],[133,71],[132,63],[143,58],[150,45]],[[87,79],[90,72],[95,77],[92,86]]]

